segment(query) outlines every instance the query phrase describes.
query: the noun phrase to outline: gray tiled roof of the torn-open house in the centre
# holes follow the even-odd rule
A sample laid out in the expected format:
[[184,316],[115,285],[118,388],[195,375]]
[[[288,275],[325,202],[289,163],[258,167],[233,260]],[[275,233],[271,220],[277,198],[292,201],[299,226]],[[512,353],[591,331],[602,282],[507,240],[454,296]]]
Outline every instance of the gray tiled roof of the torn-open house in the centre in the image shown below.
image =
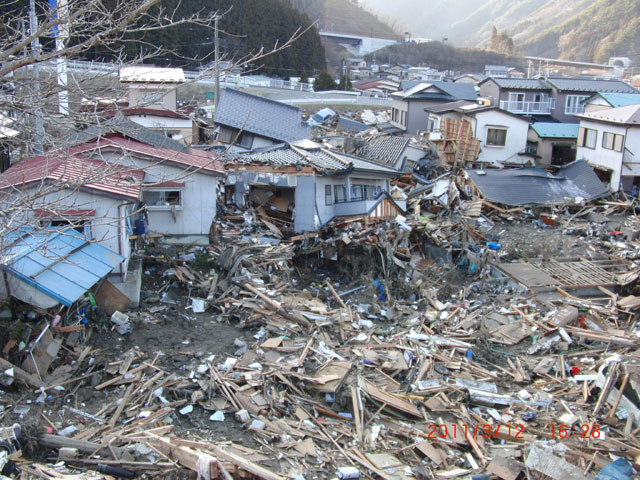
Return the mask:
[[274,145],[243,154],[227,154],[226,164],[241,163],[246,165],[273,165],[277,167],[312,166],[317,170],[346,171],[355,170],[374,171],[385,175],[399,175],[400,172],[366,159],[334,152],[321,148],[301,148],[288,144]]

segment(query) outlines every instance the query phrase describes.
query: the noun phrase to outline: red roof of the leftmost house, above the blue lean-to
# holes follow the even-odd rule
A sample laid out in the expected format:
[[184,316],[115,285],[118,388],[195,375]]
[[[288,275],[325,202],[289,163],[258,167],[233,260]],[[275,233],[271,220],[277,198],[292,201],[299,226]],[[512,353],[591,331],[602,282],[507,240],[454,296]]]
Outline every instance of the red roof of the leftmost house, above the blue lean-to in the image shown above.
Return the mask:
[[12,165],[0,174],[0,189],[35,182],[57,181],[70,189],[87,188],[137,200],[144,172],[68,153],[38,155]]

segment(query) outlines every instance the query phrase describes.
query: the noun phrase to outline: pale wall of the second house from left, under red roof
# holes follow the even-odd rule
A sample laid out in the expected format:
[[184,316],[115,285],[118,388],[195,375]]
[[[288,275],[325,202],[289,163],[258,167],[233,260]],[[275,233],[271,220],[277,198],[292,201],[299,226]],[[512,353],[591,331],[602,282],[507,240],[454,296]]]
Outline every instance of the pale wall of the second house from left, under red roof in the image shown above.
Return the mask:
[[209,227],[216,216],[218,178],[205,173],[185,174],[181,167],[148,160],[138,156],[103,152],[108,162],[143,169],[145,183],[184,182],[182,208],[156,210],[149,207],[149,233],[164,235],[209,235]]

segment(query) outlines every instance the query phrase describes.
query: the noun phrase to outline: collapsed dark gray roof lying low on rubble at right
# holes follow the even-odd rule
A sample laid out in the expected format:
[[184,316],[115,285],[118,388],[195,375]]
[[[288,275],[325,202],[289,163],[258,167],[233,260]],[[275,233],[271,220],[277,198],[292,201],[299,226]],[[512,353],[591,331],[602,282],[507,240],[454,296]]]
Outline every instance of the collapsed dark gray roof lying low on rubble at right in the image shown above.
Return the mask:
[[565,199],[593,200],[609,193],[584,160],[555,174],[542,168],[466,170],[482,196],[502,205],[548,205]]

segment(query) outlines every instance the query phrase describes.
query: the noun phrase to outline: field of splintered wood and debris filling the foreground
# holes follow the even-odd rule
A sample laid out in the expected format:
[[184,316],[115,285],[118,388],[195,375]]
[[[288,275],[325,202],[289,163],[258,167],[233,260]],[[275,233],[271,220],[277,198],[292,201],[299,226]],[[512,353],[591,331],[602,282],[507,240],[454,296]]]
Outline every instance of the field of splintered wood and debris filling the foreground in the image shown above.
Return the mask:
[[138,249],[135,309],[8,305],[3,475],[634,478],[635,202],[473,202],[300,235],[229,210]]

